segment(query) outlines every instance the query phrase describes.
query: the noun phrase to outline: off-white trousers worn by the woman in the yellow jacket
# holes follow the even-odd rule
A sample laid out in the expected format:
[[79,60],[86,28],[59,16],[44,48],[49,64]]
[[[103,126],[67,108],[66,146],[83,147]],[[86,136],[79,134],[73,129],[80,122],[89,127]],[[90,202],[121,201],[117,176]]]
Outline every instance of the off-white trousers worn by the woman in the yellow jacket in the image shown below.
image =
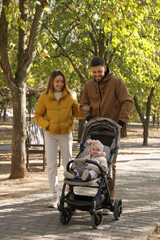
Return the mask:
[[64,170],[68,161],[72,159],[72,132],[67,134],[52,134],[45,131],[45,150],[47,160],[47,171],[49,186],[52,193],[58,191],[58,176],[57,176],[57,147],[59,144],[62,164]]

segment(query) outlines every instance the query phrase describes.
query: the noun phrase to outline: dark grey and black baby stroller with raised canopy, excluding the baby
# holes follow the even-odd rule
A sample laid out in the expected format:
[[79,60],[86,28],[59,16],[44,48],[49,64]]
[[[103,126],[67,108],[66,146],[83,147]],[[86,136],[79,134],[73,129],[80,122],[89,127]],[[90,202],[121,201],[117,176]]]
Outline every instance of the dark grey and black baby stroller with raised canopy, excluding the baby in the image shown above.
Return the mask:
[[[116,199],[112,204],[108,188],[108,181],[112,179],[112,160],[119,148],[119,138],[119,126],[109,118],[94,118],[86,124],[80,142],[80,152],[74,160],[68,162],[66,169],[69,171],[74,163],[77,169],[83,171],[86,163],[93,163],[98,166],[101,174],[90,181],[82,181],[81,178],[64,179],[58,205],[59,219],[62,224],[69,223],[76,209],[90,213],[93,228],[98,228],[102,223],[103,209],[113,212],[115,220],[119,219],[122,213],[122,200]],[[85,159],[90,148],[87,143],[88,139],[99,140],[104,145],[108,162],[106,172],[102,171],[97,162]],[[68,192],[66,191],[67,185]],[[84,193],[83,190],[86,189],[87,191]]]

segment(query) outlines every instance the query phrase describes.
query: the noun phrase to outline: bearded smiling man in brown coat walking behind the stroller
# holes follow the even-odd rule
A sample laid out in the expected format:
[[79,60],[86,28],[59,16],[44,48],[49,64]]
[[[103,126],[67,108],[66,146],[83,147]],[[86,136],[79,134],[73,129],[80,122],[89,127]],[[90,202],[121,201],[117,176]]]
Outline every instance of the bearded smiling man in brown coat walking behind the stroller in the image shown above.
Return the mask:
[[[81,95],[80,107],[85,119],[106,117],[116,121],[120,128],[128,122],[133,102],[124,81],[115,76],[100,57],[91,61],[93,78],[85,83]],[[84,107],[88,105],[90,108]],[[112,203],[115,194],[116,157],[112,162],[113,180],[109,181]]]

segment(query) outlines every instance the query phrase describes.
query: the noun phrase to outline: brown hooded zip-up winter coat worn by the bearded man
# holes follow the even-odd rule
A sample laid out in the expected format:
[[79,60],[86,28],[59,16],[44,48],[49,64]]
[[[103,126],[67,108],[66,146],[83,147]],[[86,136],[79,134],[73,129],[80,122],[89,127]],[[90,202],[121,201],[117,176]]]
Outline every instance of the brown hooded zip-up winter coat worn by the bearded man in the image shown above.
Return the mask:
[[[86,104],[91,107],[90,111],[83,110]],[[124,81],[109,70],[101,81],[92,78],[85,83],[80,107],[85,118],[106,117],[127,123],[133,102]]]

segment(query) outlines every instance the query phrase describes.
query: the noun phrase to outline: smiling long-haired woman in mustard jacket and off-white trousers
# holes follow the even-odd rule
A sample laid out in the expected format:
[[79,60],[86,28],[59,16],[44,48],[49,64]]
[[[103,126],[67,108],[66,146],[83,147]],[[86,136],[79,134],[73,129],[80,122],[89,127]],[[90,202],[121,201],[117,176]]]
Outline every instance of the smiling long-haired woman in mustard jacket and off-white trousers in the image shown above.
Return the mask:
[[64,169],[72,158],[72,130],[74,117],[83,118],[76,99],[71,95],[62,71],[52,72],[47,90],[38,100],[36,123],[45,130],[45,149],[50,190],[49,207],[58,202],[57,146],[59,143]]

